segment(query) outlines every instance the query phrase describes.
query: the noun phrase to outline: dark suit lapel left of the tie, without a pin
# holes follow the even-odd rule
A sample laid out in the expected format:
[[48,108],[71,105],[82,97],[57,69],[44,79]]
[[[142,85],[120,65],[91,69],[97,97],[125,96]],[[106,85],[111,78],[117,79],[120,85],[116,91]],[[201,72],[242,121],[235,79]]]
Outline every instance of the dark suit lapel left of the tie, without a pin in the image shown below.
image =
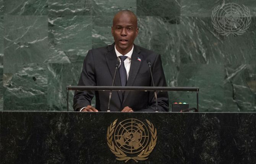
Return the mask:
[[[115,65],[117,64],[117,54],[115,53],[115,44],[110,45],[107,49],[109,52],[105,54],[106,62],[109,67],[110,74],[112,76],[112,79],[114,78],[115,75]],[[112,81],[111,81],[112,84]],[[117,69],[117,73],[115,75],[115,81],[114,81],[114,86],[121,86],[121,80],[120,80],[120,75],[119,75],[119,70]],[[117,91],[120,102],[123,100],[123,94],[122,91]]]

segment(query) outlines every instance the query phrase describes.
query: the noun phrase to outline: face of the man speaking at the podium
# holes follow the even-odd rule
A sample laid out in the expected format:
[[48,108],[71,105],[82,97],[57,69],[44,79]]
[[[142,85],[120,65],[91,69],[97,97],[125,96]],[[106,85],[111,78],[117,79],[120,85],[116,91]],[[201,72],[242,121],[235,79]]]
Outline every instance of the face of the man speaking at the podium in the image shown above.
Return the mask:
[[138,35],[137,19],[130,13],[118,13],[113,19],[111,29],[117,51],[123,55],[133,48]]

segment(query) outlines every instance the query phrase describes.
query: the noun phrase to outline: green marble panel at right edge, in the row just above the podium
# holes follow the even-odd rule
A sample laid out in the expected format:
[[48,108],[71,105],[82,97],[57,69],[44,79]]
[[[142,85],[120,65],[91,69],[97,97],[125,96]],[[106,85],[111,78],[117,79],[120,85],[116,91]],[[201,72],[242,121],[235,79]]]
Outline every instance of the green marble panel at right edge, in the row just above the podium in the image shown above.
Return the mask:
[[224,100],[230,111],[256,111],[256,94],[246,83],[247,77],[256,77],[255,64],[225,65]]

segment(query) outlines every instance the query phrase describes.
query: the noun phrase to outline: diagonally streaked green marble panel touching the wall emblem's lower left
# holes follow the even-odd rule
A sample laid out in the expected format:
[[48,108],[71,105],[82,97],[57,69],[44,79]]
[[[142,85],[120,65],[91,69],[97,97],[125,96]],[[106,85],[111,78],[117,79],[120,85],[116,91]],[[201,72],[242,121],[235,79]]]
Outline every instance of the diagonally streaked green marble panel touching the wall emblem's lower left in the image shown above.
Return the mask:
[[181,17],[180,62],[224,63],[224,38],[215,32],[211,18]]

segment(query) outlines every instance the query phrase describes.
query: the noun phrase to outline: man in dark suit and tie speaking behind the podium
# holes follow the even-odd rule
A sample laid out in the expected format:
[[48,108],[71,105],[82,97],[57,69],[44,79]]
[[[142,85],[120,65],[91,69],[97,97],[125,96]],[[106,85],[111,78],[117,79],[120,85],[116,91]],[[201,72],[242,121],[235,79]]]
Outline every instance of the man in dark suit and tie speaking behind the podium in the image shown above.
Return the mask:
[[[151,62],[155,86],[166,86],[160,55],[134,45],[138,35],[137,18],[129,10],[118,12],[113,18],[112,45],[89,50],[84,59],[78,86],[111,86],[115,65],[120,63],[114,86],[152,86],[148,62]],[[118,62],[119,61],[119,62]],[[96,108],[91,106],[96,96]],[[167,92],[157,92],[159,111],[168,111]],[[76,91],[75,111],[107,111],[109,91]],[[113,91],[111,111],[156,111],[154,92]]]

